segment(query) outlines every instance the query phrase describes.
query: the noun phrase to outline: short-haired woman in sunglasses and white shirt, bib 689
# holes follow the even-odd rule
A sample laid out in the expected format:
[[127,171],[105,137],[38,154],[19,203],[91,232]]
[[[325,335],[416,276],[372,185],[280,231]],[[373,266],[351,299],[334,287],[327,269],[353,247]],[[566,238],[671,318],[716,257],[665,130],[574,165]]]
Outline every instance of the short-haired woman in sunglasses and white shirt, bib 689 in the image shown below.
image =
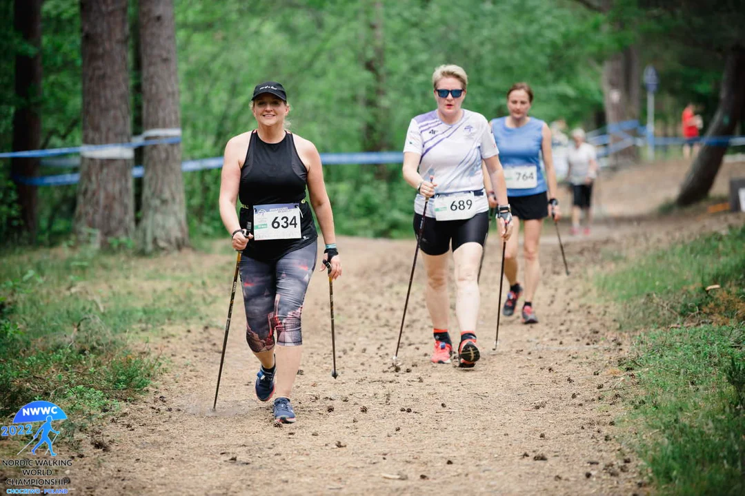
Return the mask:
[[482,161],[486,162],[499,204],[500,236],[506,240],[512,232],[507,187],[489,123],[483,115],[461,108],[467,84],[466,71],[457,65],[435,69],[432,85],[437,110],[411,120],[403,165],[406,182],[419,193],[414,202],[413,226],[419,234],[422,225],[420,247],[427,270],[425,300],[434,332],[431,360],[450,363],[453,350],[448,333],[447,288],[448,251],[452,245],[460,367],[473,367],[480,357],[475,333],[480,303],[477,277],[489,231]]

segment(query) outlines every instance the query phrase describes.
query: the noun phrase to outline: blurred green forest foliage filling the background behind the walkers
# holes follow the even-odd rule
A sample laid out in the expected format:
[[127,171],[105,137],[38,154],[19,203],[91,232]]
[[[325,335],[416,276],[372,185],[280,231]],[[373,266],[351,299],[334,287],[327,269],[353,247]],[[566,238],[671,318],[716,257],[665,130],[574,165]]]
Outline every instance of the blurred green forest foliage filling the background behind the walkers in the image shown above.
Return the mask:
[[[3,151],[13,148],[13,114],[25,106],[40,116],[40,148],[83,142],[81,3],[40,3],[38,50],[13,29],[13,2],[3,1],[0,7],[2,28],[13,33],[0,39]],[[121,42],[127,48],[131,133],[138,135],[143,131],[138,2],[124,4],[129,32]],[[588,130],[628,118],[644,122],[641,70],[653,64],[662,81],[656,132],[679,135],[680,113],[688,101],[700,106],[705,122],[714,119],[732,47],[743,72],[744,23],[735,22],[738,15],[744,16],[735,0],[706,5],[646,0],[176,0],[182,158],[220,156],[229,138],[252,129],[250,97],[253,86],[264,80],[278,80],[287,88],[291,129],[320,152],[398,151],[411,117],[434,109],[431,74],[442,63],[466,69],[464,107],[488,119],[506,115],[507,88],[525,81],[536,94],[534,117],[547,122],[563,118],[570,128]],[[13,84],[19,56],[40,56],[42,65],[39,88],[25,99]],[[742,101],[737,100],[738,115]],[[10,181],[10,160],[0,164],[0,234],[6,242],[16,241],[13,233],[23,224],[22,211]],[[134,164],[142,164],[142,149]],[[37,173],[60,169],[42,163]],[[399,164],[334,165],[325,174],[335,209],[344,213],[337,215],[338,232],[410,236],[413,193],[402,181]],[[221,234],[220,170],[185,173],[183,184],[188,236]],[[136,222],[142,216],[142,189],[142,179],[136,179]],[[77,185],[38,188],[32,242],[69,237],[76,190]],[[109,244],[130,245],[132,238],[112,236]]]

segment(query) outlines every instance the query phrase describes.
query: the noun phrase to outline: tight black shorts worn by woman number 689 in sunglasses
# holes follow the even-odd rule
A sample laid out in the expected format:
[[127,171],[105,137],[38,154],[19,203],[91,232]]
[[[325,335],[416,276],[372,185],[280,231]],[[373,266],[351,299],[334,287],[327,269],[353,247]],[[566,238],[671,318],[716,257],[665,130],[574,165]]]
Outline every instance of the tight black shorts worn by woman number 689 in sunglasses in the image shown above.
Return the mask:
[[[419,213],[414,214],[414,233],[419,233],[419,223],[422,222],[422,216]],[[446,254],[450,249],[452,240],[453,251],[460,248],[460,245],[468,242],[476,242],[484,246],[486,233],[489,231],[489,212],[477,213],[470,219],[462,220],[443,220],[438,221],[432,217],[427,217],[424,221],[424,233],[419,247],[428,255]]]

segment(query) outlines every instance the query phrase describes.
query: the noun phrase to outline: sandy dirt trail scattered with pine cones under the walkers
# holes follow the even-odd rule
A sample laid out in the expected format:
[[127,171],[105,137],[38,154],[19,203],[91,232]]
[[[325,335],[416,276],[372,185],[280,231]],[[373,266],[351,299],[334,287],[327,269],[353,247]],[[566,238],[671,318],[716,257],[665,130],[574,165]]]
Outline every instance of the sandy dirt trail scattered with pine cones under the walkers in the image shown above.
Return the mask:
[[[615,196],[612,202],[613,190],[635,190],[641,201],[641,185],[654,189],[644,174],[634,189],[634,177],[620,173],[603,183],[601,202],[608,210],[621,201]],[[742,222],[736,215],[720,219],[718,225]],[[224,287],[211,291],[223,292],[224,301],[212,307],[208,326],[171,329],[173,337],[158,345],[171,359],[168,372],[145,399],[127,405],[95,435],[106,451],[83,442],[71,487],[83,495],[644,494],[638,460],[621,447],[615,425],[630,394],[617,367],[629,339],[615,332],[609,309],[589,303],[587,276],[606,263],[603,253],[622,250],[631,237],[665,239],[686,226],[691,219],[652,218],[598,225],[592,236],[570,237],[562,225],[572,271],[566,277],[547,225],[535,301],[541,322],[524,326],[517,317],[502,318],[495,352],[500,260],[497,241],[489,239],[478,329],[484,354],[473,370],[429,362],[420,265],[399,373],[390,368],[390,357],[413,242],[340,239],[344,276],[334,288],[340,376],[330,374],[329,293],[320,273],[311,281],[303,315],[305,355],[293,399],[298,422],[282,428],[272,426],[270,405],[253,393],[257,362],[244,339],[240,301],[218,410],[211,411],[232,256],[169,260],[164,270],[223,263]],[[457,335],[454,312],[451,322]]]

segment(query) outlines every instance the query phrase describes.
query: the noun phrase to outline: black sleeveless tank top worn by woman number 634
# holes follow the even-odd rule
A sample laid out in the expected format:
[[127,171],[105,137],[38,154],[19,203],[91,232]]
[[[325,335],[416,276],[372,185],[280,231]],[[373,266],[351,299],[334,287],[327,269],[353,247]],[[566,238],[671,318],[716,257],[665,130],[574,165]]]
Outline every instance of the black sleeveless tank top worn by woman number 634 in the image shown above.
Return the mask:
[[[308,170],[302,164],[291,133],[279,143],[265,143],[259,133],[251,133],[246,160],[241,169],[238,198],[241,200],[241,228],[253,227],[253,206],[297,203],[300,207],[298,239],[250,241],[243,251],[246,257],[273,262],[291,251],[311,245],[318,237],[311,207],[305,200]],[[250,229],[253,233],[253,229]]]

